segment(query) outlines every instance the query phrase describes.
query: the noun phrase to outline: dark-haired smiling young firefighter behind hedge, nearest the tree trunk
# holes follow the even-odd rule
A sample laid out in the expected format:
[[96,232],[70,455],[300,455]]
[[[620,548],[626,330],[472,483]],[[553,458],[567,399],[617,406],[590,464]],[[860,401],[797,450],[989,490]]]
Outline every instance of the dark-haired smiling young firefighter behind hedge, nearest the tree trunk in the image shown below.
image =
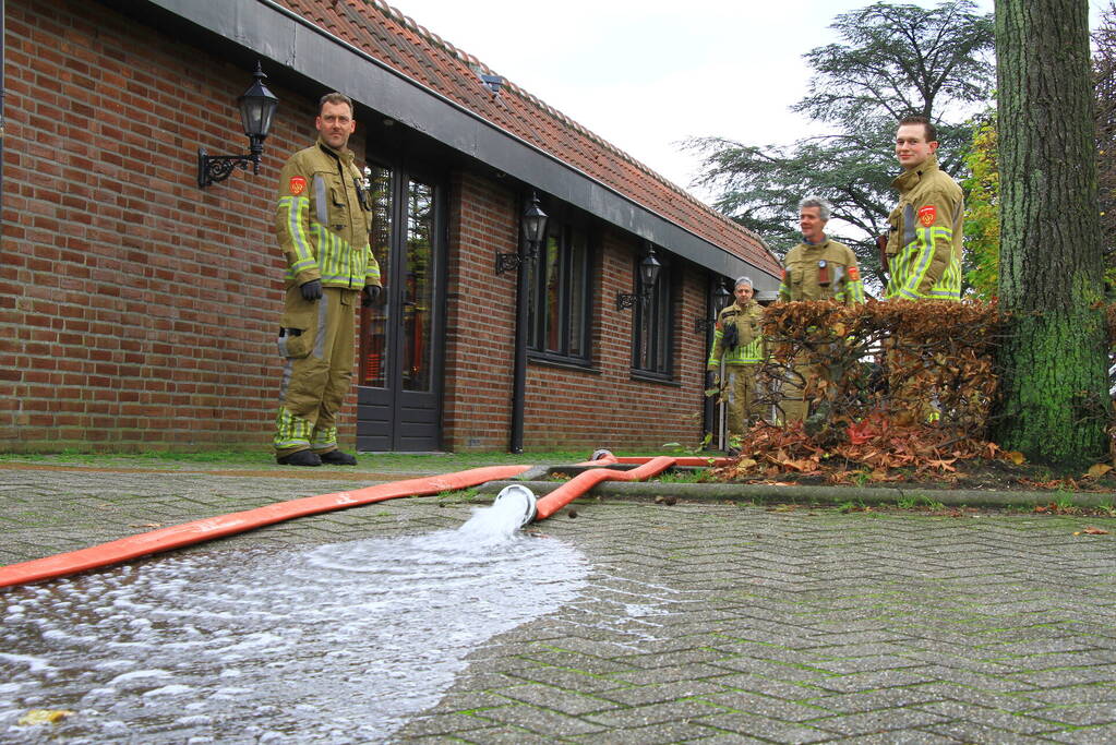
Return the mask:
[[895,155],[903,173],[892,182],[899,203],[888,217],[882,262],[891,272],[888,300],[961,301],[964,197],[937,167],[936,151],[937,133],[926,117],[899,122]]

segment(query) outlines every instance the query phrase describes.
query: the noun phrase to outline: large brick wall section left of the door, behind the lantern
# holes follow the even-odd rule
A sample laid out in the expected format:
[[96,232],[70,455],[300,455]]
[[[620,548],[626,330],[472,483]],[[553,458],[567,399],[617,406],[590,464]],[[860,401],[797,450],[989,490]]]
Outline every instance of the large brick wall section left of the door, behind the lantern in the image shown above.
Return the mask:
[[272,190],[314,104],[272,86],[260,174],[200,190],[199,146],[247,152],[251,70],[98,3],[6,10],[0,448],[266,447]]

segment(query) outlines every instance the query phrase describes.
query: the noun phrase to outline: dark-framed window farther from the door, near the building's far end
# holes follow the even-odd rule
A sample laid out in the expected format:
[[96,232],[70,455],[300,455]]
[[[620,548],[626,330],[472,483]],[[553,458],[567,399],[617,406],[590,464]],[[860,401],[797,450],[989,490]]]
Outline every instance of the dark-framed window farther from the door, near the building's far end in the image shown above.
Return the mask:
[[632,370],[641,377],[674,378],[674,287],[670,261],[658,257],[662,269],[644,294],[639,260],[635,262],[636,301],[633,312]]

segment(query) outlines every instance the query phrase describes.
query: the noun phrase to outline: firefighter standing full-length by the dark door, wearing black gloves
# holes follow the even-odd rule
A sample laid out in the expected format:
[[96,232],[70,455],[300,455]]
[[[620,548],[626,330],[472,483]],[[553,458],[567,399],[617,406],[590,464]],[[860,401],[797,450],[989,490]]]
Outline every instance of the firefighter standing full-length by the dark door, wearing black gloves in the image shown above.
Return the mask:
[[337,449],[336,416],[353,379],[357,298],[371,304],[378,297],[379,264],[368,244],[371,193],[347,147],[353,101],[324,96],[315,126],[318,142],[295,153],[279,177],[276,234],[287,273],[273,446],[287,465],[355,465]]

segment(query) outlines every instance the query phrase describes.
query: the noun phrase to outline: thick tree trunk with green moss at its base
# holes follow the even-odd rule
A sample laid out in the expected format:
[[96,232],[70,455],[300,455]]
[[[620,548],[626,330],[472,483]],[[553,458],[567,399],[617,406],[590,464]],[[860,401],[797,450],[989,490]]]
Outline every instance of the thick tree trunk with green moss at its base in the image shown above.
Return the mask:
[[1110,416],[1087,0],[997,0],[1000,303],[995,439],[1080,467]]

